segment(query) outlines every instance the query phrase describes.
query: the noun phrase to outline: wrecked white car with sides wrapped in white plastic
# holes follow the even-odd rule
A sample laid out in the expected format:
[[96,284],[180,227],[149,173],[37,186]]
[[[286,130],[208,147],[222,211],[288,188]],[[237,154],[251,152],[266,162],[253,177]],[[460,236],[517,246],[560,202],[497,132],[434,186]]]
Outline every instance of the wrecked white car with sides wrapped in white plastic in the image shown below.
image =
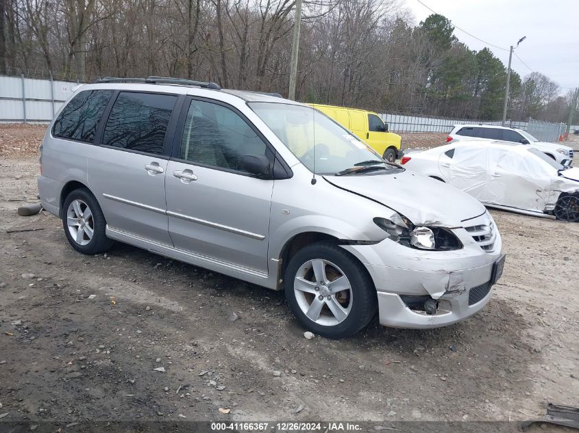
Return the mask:
[[401,162],[489,207],[579,221],[579,168],[561,166],[525,144],[451,142],[405,153]]

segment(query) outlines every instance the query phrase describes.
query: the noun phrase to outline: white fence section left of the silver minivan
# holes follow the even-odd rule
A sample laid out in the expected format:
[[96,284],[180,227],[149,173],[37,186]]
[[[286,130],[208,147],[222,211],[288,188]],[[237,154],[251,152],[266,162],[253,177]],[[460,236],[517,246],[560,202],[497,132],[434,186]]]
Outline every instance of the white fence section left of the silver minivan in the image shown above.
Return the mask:
[[0,75],[0,123],[50,122],[77,83]]

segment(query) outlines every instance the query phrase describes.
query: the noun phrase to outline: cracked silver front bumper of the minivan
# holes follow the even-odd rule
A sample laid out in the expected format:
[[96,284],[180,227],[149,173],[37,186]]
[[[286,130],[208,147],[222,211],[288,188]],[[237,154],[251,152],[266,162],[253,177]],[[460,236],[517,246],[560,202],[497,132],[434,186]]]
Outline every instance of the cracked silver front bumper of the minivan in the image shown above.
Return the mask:
[[[470,224],[477,230],[481,227],[479,220]],[[494,231],[493,244],[489,245],[465,225],[469,231],[452,230],[463,243],[460,250],[415,250],[389,239],[375,245],[343,246],[364,263],[374,282],[380,324],[396,328],[447,326],[477,313],[489,302],[495,274],[502,272],[504,263],[502,240]],[[435,301],[434,314],[421,308],[424,300]]]

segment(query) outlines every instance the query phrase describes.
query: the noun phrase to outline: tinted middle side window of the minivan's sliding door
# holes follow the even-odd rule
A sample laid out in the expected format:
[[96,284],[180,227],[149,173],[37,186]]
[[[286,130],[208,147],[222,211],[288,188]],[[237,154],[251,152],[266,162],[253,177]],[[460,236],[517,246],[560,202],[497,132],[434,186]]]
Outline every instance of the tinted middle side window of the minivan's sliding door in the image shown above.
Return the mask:
[[103,133],[103,145],[161,155],[177,96],[121,92]]

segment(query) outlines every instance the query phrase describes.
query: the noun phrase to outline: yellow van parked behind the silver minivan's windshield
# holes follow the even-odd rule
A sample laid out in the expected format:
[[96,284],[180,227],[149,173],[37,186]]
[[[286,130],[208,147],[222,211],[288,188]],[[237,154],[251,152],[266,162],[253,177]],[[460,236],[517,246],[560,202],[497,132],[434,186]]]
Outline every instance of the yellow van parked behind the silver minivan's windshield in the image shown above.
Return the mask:
[[336,120],[345,129],[352,131],[363,142],[371,146],[390,162],[398,158],[402,137],[389,132],[378,114],[363,109],[336,107],[334,105],[308,104],[326,116]]

